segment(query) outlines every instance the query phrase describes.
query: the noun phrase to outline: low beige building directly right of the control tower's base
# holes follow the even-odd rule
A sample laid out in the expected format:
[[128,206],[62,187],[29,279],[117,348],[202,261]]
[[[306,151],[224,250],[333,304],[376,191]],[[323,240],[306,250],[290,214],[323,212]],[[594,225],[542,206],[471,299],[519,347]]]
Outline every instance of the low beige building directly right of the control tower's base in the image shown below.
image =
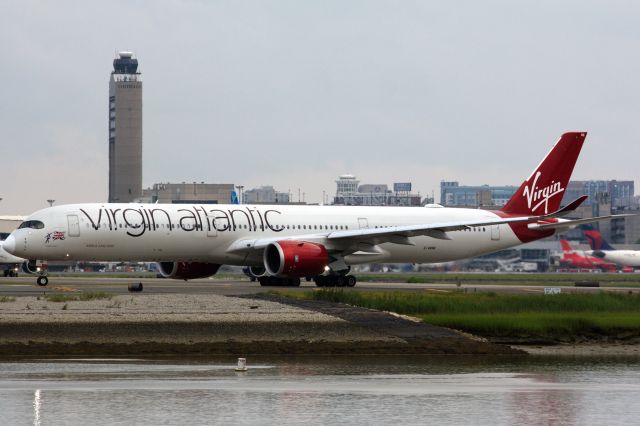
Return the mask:
[[232,183],[155,183],[142,200],[166,204],[231,204]]

